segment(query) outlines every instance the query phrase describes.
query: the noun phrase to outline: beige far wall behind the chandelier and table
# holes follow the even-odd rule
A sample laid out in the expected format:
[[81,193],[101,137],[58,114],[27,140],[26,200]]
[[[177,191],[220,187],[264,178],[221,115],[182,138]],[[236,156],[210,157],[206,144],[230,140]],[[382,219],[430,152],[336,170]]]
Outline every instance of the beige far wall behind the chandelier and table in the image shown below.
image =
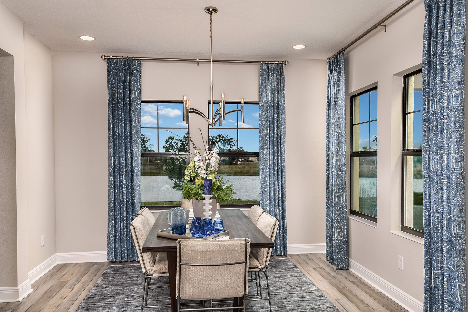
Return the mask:
[[[107,79],[101,54],[53,51],[57,252],[107,247]],[[324,60],[289,61],[288,243],[323,243],[327,65]],[[223,91],[228,101],[258,101],[258,65],[213,67],[215,98]],[[142,99],[180,100],[187,94],[190,106],[206,111],[209,71],[203,63],[144,62]],[[201,128],[206,135],[201,117],[193,116],[190,122],[192,134]]]

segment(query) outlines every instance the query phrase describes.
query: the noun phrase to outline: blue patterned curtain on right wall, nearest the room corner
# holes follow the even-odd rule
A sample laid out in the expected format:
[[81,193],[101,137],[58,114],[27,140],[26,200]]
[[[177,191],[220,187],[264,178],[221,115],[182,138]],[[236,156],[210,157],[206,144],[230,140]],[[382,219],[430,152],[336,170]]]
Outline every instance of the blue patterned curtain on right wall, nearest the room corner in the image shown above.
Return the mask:
[[344,54],[328,61],[326,256],[338,270],[348,268],[346,208],[346,109]]

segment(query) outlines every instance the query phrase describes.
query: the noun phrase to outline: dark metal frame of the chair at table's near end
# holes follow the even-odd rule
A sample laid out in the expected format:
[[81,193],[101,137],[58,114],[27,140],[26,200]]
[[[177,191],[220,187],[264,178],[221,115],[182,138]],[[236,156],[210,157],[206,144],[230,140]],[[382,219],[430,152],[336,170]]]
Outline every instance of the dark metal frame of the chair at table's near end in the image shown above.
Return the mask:
[[[247,252],[247,247],[248,247],[248,241],[247,239],[245,239],[245,259],[244,261],[239,261],[239,262],[230,262],[230,263],[210,263],[210,264],[199,264],[199,263],[182,263],[182,241],[178,241],[177,244],[180,244],[180,252],[179,252],[179,264],[178,264],[178,268],[177,268],[177,271],[179,272],[179,274],[177,275],[177,279],[178,279],[178,285],[177,285],[177,293],[178,293],[178,296],[177,296],[177,312],[181,312],[181,311],[207,311],[207,310],[233,310],[233,309],[242,309],[243,312],[245,312],[245,306],[246,306],[246,299],[245,299],[245,296],[247,295],[247,291],[246,291],[246,288],[247,288],[247,283],[248,283],[248,273],[249,273],[249,268],[247,267],[247,261],[248,261],[248,257],[249,257],[249,254]],[[219,308],[216,308],[214,307],[213,308],[213,303],[221,303],[221,302],[227,302],[227,301],[218,301],[218,302],[213,302],[213,300],[211,299],[211,307],[209,308],[205,308],[205,300],[203,300],[203,308],[194,308],[194,309],[181,309],[181,298],[180,298],[180,287],[181,287],[181,267],[182,266],[197,266],[197,267],[220,267],[220,266],[228,266],[228,265],[235,265],[235,264],[244,264],[244,295],[242,296],[243,300],[242,300],[242,303],[243,305],[242,306],[234,306],[234,307],[219,307]]]

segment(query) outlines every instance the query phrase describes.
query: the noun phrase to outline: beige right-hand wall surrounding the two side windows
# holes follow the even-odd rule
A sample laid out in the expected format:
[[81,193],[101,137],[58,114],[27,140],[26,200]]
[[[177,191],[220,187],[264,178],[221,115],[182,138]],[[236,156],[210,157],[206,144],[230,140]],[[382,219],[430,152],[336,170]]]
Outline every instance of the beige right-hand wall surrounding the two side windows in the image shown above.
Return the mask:
[[[386,23],[386,33],[376,30],[347,51],[347,95],[373,83],[379,90],[378,225],[349,219],[349,248],[353,261],[422,302],[423,245],[396,235],[401,213],[402,74],[422,62],[424,3],[415,2]],[[397,268],[398,255],[403,270]]]

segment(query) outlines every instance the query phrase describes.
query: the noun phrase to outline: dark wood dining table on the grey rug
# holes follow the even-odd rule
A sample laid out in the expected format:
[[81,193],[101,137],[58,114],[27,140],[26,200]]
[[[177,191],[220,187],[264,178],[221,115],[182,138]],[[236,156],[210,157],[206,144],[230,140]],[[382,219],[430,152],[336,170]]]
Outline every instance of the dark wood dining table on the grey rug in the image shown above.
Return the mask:
[[[143,244],[144,253],[167,252],[168,254],[168,274],[169,291],[171,297],[171,311],[177,311],[176,299],[176,275],[177,275],[177,248],[176,239],[169,239],[157,235],[159,230],[170,228],[167,221],[168,211],[161,211],[156,218],[151,231]],[[240,209],[219,209],[217,215],[223,219],[226,230],[229,231],[229,239],[248,238],[250,239],[250,249],[252,248],[272,248],[273,241],[253,223]],[[243,297],[236,297],[233,306],[242,306]],[[233,309],[240,312],[241,309]]]

